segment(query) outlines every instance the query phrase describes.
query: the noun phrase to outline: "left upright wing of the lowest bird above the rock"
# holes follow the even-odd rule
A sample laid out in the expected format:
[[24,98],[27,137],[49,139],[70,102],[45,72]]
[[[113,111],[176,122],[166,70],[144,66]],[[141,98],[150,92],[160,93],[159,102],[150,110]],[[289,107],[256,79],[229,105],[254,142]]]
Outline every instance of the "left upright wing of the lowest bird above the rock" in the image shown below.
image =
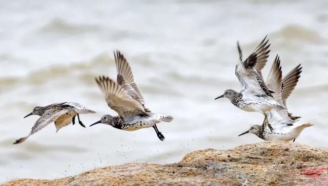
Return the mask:
[[281,78],[282,78],[282,72],[281,72],[281,66],[280,66],[280,58],[277,55],[275,60],[272,63],[266,83],[267,83],[268,87],[274,91],[274,93],[272,93],[272,96],[280,105],[282,105]]

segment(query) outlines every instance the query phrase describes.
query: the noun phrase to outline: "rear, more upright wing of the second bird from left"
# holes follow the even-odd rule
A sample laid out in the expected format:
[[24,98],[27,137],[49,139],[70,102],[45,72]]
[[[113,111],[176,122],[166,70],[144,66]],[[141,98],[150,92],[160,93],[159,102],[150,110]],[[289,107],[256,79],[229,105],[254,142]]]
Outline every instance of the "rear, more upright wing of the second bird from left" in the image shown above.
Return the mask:
[[142,96],[138,85],[134,82],[132,70],[127,59],[119,51],[114,52],[114,57],[117,70],[117,83],[127,91],[129,96],[141,105],[145,105],[144,96]]

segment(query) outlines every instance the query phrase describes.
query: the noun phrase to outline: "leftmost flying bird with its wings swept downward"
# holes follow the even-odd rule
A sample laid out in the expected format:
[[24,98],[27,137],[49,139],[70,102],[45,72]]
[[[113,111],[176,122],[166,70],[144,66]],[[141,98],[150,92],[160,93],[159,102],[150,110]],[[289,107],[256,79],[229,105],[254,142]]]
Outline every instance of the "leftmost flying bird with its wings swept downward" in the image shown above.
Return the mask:
[[50,123],[54,122],[56,126],[56,132],[62,127],[69,125],[71,122],[75,124],[75,117],[77,115],[78,123],[82,127],[86,127],[79,118],[79,114],[84,113],[96,113],[93,110],[86,108],[79,103],[74,102],[63,102],[63,103],[54,103],[48,106],[36,106],[33,108],[33,111],[27,114],[24,118],[29,117],[30,115],[39,115],[40,118],[35,122],[32,127],[29,135],[17,139],[13,144],[19,144],[24,142],[30,135],[35,132],[43,129]]

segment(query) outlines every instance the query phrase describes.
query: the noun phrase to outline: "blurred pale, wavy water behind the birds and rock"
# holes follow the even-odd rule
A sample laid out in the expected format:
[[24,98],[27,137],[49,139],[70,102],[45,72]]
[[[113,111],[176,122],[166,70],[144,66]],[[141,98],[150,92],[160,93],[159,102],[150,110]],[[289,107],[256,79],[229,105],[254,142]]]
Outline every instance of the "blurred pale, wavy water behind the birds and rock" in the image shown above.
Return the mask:
[[[261,142],[238,137],[263,115],[242,111],[225,89],[239,91],[234,69],[236,41],[244,57],[268,34],[283,75],[299,63],[303,73],[287,104],[311,122],[295,143],[328,149],[328,1],[1,1],[0,183],[16,178],[54,179],[96,167],[130,162],[168,164],[186,153]],[[107,125],[54,124],[30,132],[34,106],[78,102],[96,114],[111,110],[94,78],[116,79],[113,51],[130,62],[135,80],[154,112],[170,114],[154,129],[121,131]]]

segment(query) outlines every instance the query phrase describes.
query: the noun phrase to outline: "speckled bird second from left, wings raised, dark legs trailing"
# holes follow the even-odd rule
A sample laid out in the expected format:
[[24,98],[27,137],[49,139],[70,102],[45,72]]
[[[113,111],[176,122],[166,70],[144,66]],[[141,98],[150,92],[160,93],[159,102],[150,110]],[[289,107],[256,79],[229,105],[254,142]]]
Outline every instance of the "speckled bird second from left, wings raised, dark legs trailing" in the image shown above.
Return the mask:
[[127,59],[119,51],[114,52],[117,83],[109,77],[99,76],[96,82],[105,95],[108,106],[118,115],[104,115],[94,124],[103,123],[114,128],[134,131],[141,128],[153,127],[157,137],[163,141],[164,135],[158,130],[156,124],[171,122],[171,115],[161,115],[152,112],[146,107],[144,96],[134,81],[132,70]]

